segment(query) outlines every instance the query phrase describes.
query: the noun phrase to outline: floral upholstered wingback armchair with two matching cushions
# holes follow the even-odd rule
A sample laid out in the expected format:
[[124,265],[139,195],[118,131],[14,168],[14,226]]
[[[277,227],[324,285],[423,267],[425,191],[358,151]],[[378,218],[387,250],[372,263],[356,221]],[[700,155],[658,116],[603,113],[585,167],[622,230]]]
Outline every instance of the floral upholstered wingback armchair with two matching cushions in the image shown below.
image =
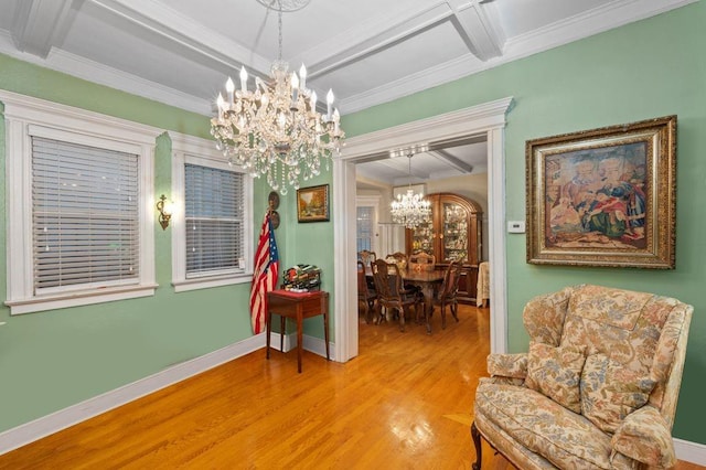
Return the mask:
[[574,286],[532,299],[530,351],[491,354],[471,434],[521,469],[642,469],[676,463],[672,425],[693,307]]

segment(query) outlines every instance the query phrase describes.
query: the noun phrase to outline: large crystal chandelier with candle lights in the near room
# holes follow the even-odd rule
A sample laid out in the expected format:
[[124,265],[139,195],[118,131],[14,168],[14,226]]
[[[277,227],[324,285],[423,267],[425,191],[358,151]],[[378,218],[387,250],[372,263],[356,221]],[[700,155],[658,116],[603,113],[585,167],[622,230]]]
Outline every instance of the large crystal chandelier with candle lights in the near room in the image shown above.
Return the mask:
[[321,172],[321,160],[340,154],[345,133],[339,110],[333,108],[333,90],[327,95],[327,114],[317,111],[317,93],[307,88],[307,68],[299,76],[289,74],[282,61],[282,12],[296,11],[311,0],[257,0],[279,14],[279,57],[270,70],[271,82],[255,77],[248,89],[248,74],[240,70],[240,88],[226,82],[226,97],[218,94],[218,115],[211,119],[216,147],[253,177],[266,177],[267,183],[282,195],[288,186],[299,189],[300,178],[309,180]]

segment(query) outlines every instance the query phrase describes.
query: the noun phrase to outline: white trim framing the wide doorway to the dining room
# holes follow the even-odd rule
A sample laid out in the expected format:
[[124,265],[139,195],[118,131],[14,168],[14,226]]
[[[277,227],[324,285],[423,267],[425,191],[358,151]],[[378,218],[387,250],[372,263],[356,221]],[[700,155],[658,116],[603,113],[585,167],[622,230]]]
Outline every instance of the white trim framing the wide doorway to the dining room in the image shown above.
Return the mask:
[[[505,276],[505,149],[506,114],[513,98],[434,116],[346,140],[333,161],[333,249],[335,259],[355,259],[355,163],[372,154],[420,142],[438,142],[474,136],[488,141],[488,223],[491,352],[507,351],[507,292]],[[334,263],[335,360],[357,355],[357,296],[354,263]]]

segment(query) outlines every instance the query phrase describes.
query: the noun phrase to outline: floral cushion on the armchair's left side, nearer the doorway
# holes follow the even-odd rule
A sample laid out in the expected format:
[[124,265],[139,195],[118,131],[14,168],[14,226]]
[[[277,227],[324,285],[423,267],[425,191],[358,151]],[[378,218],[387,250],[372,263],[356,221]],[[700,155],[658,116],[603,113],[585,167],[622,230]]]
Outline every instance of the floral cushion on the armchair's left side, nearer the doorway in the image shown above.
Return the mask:
[[574,413],[581,413],[579,383],[586,356],[585,348],[530,343],[528,388],[548,396]]

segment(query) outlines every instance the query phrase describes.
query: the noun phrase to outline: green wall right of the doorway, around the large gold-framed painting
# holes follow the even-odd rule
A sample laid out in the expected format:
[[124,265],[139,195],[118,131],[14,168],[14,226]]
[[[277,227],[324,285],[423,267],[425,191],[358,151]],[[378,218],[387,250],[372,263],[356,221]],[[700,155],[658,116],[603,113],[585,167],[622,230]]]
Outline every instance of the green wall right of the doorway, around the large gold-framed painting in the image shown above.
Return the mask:
[[575,268],[525,263],[525,237],[507,234],[509,345],[526,350],[525,302],[566,285],[595,282],[676,297],[695,308],[675,437],[706,444],[706,3],[697,2],[414,96],[346,115],[349,136],[515,98],[506,127],[506,217],[525,217],[525,141],[678,115],[676,269]]

